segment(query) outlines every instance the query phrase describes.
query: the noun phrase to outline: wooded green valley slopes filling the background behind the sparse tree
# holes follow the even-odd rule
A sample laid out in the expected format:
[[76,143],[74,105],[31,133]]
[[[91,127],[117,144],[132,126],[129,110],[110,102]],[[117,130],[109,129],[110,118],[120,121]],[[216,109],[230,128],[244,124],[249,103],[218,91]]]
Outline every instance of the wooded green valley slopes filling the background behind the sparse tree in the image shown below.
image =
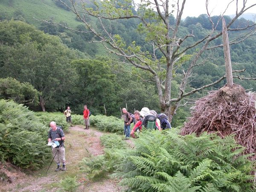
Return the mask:
[[[71,6],[69,0],[63,2]],[[58,0],[0,2],[0,97],[13,99],[34,111],[64,111],[70,105],[74,113],[81,114],[83,105],[87,104],[93,114],[105,114],[106,108],[107,116],[120,116],[120,108],[125,106],[128,111],[147,106],[160,113],[162,108],[152,76],[147,71],[131,67],[131,64],[124,64],[126,61],[118,55],[108,54],[109,51],[102,44],[92,43],[100,39],[88,31],[67,6]],[[90,3],[87,7],[96,9],[96,5]],[[131,10],[134,14],[139,12],[134,8]],[[54,12],[55,16],[51,16]],[[232,20],[229,16],[224,18],[226,23]],[[211,17],[213,23],[218,23],[218,19],[219,16]],[[101,23],[95,17],[90,16],[88,20],[93,21],[96,29],[101,28]],[[143,29],[138,27],[139,20],[133,18],[103,22],[111,29],[113,36],[119,35],[119,43],[123,46],[136,42],[136,46],[144,52],[152,50],[146,40],[148,36],[143,35]],[[175,25],[175,22],[176,18],[170,15],[169,25]],[[253,21],[239,17],[230,28],[245,28],[247,24],[251,28],[244,32],[230,31],[230,38],[241,38],[253,30]],[[216,32],[221,31],[221,25],[219,22]],[[211,28],[207,15],[186,17],[180,21],[177,36],[192,33],[193,38],[185,42],[189,46],[210,33]],[[221,44],[221,41],[219,37],[210,44],[214,47]],[[254,77],[255,41],[256,36],[250,35],[239,44],[230,45],[233,70],[246,69],[243,73],[233,73],[233,76],[240,78],[234,81],[252,91],[256,89],[256,82],[241,80],[241,77]],[[178,96],[183,72],[189,67],[189,60],[197,49],[200,48],[187,50],[186,55],[176,63],[173,69],[172,97]],[[159,50],[155,56],[161,60]],[[186,84],[187,92],[211,84],[225,75],[222,47],[207,50],[199,61],[201,64],[193,67],[189,83]],[[159,70],[158,75],[164,76],[165,73]],[[218,89],[224,84],[225,80],[206,90]],[[190,101],[206,94],[207,91],[201,90],[181,99],[172,124],[181,125],[189,116]]]

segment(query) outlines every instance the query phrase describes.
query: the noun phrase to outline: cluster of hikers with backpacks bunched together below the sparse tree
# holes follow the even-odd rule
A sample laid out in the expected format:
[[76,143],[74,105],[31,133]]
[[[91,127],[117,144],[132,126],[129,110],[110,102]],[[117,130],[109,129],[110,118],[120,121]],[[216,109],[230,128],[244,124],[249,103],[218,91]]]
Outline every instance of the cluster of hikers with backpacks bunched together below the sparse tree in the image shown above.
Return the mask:
[[[160,113],[157,114],[154,110],[149,110],[148,108],[142,108],[141,111],[134,111],[134,114],[129,113],[126,108],[122,108],[122,118],[124,119],[124,135],[125,139],[129,139],[135,137],[135,132],[142,131],[142,127],[144,126],[146,129],[155,129],[155,130],[163,130],[171,128],[171,124],[167,119],[166,114]],[[134,123],[133,129],[131,129],[131,123]]]

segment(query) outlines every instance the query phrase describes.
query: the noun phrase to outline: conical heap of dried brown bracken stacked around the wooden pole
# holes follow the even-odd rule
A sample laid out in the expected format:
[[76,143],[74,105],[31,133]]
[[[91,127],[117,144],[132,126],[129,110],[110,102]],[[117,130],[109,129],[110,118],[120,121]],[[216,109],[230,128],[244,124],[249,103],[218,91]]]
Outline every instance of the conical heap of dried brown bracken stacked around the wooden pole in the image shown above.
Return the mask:
[[[181,134],[215,132],[221,137],[235,134],[246,153],[256,153],[256,94],[246,93],[240,85],[222,87],[195,103]],[[256,155],[250,157],[255,160]]]

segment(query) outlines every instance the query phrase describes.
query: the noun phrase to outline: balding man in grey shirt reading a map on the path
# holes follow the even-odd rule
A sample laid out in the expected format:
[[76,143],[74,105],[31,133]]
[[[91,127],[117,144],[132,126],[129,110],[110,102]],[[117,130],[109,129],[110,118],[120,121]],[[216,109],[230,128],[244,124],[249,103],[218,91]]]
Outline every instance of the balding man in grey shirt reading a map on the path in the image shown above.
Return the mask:
[[[66,170],[66,158],[65,158],[65,147],[64,140],[65,135],[61,128],[56,126],[56,122],[50,122],[51,129],[48,132],[48,143],[51,141],[55,142],[55,147],[52,147],[52,156],[57,163],[57,169],[55,171]],[[62,168],[60,163],[62,163]]]

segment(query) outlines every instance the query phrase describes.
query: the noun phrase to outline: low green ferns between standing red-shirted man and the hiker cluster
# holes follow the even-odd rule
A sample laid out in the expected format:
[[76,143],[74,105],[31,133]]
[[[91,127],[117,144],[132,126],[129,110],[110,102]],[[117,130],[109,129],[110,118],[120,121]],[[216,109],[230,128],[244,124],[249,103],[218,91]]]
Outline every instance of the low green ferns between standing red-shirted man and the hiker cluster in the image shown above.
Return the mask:
[[114,116],[96,115],[90,117],[90,125],[102,131],[123,133],[124,122]]

